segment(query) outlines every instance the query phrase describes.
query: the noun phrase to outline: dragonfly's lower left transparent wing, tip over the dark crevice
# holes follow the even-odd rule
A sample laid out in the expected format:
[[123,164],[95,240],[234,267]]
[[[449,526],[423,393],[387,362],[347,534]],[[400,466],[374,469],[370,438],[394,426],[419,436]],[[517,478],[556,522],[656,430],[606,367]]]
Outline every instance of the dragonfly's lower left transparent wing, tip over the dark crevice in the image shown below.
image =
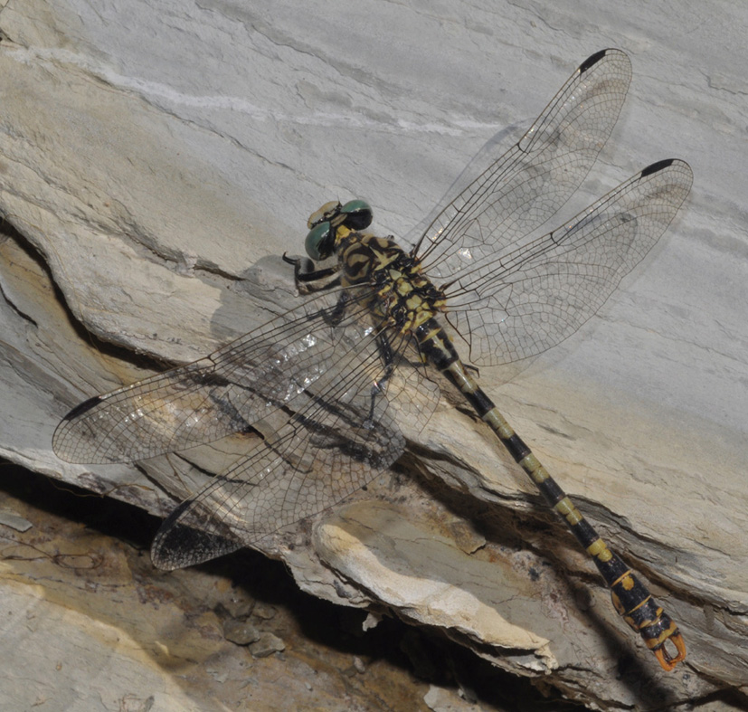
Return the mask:
[[[305,392],[298,411],[230,470],[166,519],[154,563],[179,568],[251,545],[365,486],[396,460],[404,439],[378,384],[386,369],[374,340]],[[379,374],[370,371],[377,364]],[[372,368],[370,368],[371,366]],[[296,403],[298,405],[298,402]]]

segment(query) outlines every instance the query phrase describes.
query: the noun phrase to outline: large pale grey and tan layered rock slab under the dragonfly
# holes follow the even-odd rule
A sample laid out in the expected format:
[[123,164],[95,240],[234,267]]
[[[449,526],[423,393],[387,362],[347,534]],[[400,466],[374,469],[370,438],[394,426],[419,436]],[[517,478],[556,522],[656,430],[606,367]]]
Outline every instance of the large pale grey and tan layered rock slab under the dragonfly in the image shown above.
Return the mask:
[[686,665],[661,673],[521,470],[446,400],[397,476],[259,548],[311,593],[439,627],[593,708],[744,692],[742,7],[190,12],[0,11],[0,455],[165,514],[204,481],[194,462],[232,455],[67,465],[60,417],[292,304],[279,255],[301,252],[319,204],[365,197],[377,232],[407,233],[482,143],[511,142],[582,59],[619,46],[634,80],[583,199],[671,156],[694,168],[691,198],[579,335],[510,382],[480,375],[682,625]]

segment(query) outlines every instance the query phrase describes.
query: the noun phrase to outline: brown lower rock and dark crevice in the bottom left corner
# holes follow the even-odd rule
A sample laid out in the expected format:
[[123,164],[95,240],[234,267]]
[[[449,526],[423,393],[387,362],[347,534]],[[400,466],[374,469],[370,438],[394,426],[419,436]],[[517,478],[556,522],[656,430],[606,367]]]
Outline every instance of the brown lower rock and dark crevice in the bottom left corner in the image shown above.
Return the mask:
[[[299,592],[277,562],[241,552],[222,564],[154,572],[151,517],[13,474],[11,482],[8,468],[0,470],[0,502],[32,527],[0,531],[3,710],[430,708],[422,701],[429,685],[413,677],[404,656],[383,654],[384,631],[356,635],[354,621],[346,631],[339,612],[351,609]],[[269,596],[272,620],[251,606],[246,613],[248,603],[261,607]],[[237,608],[241,622],[232,618]],[[360,631],[365,614],[353,613]],[[263,657],[229,640],[235,624],[257,628]],[[394,650],[403,631],[410,632],[387,627]],[[351,675],[362,658],[365,674]]]

